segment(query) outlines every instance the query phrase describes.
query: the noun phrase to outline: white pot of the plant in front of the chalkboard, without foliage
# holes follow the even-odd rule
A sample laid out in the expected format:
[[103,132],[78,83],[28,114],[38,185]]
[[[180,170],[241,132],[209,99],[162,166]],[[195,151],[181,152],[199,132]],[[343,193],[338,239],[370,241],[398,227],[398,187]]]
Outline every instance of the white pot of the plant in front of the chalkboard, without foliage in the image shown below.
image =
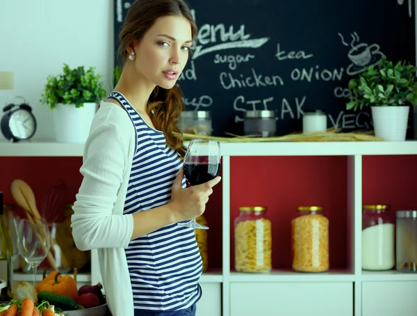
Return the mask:
[[371,106],[375,136],[405,141],[409,110],[409,106]]

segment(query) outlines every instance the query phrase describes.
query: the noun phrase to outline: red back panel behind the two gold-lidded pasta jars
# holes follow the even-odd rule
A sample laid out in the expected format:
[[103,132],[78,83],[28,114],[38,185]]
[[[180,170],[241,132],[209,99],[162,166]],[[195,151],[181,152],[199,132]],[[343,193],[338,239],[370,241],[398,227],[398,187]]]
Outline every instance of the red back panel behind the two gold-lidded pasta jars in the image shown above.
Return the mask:
[[231,268],[234,219],[243,205],[268,207],[272,268],[291,268],[291,219],[320,205],[329,219],[330,266],[347,269],[347,157],[231,157]]

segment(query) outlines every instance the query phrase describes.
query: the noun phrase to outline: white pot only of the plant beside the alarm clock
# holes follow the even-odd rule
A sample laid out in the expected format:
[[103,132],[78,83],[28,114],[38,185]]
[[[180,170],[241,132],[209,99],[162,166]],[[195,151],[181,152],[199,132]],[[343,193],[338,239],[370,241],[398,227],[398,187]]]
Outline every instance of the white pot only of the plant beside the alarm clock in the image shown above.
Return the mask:
[[85,143],[96,111],[97,103],[84,103],[79,108],[75,104],[56,104],[53,110],[56,141]]

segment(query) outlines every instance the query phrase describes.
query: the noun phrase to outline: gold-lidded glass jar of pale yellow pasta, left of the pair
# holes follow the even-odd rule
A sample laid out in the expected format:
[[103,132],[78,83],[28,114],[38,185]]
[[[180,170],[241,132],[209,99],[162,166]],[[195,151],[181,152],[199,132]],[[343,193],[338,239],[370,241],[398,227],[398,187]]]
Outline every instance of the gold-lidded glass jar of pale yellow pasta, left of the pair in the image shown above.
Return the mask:
[[272,269],[272,225],[266,207],[239,207],[234,221],[235,269],[239,272],[269,272]]

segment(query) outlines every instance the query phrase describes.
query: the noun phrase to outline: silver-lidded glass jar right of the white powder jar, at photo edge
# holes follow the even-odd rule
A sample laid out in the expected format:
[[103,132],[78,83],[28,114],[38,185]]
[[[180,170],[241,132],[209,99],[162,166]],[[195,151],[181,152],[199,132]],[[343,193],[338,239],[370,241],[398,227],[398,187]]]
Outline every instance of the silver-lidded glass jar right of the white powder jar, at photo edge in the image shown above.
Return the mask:
[[397,211],[397,264],[400,272],[417,272],[417,211]]

